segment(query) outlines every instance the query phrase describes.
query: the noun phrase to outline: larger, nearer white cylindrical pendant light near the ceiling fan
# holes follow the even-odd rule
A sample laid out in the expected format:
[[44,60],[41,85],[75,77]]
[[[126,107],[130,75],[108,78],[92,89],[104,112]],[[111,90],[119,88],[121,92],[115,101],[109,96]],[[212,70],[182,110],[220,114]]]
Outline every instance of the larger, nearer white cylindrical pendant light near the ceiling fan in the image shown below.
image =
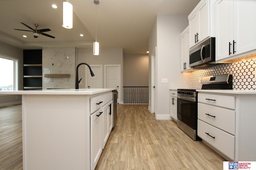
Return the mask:
[[73,6],[69,2],[63,2],[62,27],[67,29],[73,27]]

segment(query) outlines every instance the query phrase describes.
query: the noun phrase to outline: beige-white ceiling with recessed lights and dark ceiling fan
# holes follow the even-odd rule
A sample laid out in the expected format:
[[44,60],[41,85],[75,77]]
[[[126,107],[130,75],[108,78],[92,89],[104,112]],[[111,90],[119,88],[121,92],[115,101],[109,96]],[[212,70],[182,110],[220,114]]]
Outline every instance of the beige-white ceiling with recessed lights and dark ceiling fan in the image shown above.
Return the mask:
[[[158,14],[190,14],[200,0],[68,0],[73,5],[73,28],[62,27],[64,0],[0,0],[0,41],[22,49],[41,47],[92,48],[96,38],[100,48],[123,48],[124,53],[144,54],[148,37]],[[58,6],[52,8],[52,4]],[[97,8],[97,13],[96,13]],[[96,17],[97,14],[97,17]],[[23,22],[56,37],[32,32]],[[80,37],[80,34],[84,37]],[[27,38],[22,37],[27,35]]]

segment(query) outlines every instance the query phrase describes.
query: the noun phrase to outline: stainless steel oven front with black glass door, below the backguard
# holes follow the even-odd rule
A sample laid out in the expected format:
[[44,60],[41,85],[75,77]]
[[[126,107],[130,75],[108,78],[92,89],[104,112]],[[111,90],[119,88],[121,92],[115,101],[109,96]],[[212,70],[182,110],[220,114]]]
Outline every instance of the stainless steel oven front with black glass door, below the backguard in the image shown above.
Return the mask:
[[178,89],[177,92],[177,126],[194,141],[197,136],[197,92],[194,89]]

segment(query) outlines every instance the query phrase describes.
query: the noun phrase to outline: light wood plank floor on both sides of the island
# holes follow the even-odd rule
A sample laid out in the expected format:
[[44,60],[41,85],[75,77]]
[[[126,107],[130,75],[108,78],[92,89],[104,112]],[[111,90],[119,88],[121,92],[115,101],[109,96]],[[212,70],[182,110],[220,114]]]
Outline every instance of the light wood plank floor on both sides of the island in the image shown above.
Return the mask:
[[[0,107],[0,170],[22,170],[21,113],[21,105]],[[224,160],[174,121],[156,120],[148,105],[118,105],[96,170],[222,170]]]

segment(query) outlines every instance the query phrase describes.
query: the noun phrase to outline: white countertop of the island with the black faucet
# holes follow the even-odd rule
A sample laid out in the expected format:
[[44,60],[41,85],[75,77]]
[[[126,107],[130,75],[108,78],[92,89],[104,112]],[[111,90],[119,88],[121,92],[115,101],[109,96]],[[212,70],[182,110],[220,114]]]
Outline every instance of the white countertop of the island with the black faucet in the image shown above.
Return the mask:
[[63,95],[91,95],[116,90],[116,88],[103,89],[43,89],[43,90],[18,90],[0,91],[0,94],[63,94]]

